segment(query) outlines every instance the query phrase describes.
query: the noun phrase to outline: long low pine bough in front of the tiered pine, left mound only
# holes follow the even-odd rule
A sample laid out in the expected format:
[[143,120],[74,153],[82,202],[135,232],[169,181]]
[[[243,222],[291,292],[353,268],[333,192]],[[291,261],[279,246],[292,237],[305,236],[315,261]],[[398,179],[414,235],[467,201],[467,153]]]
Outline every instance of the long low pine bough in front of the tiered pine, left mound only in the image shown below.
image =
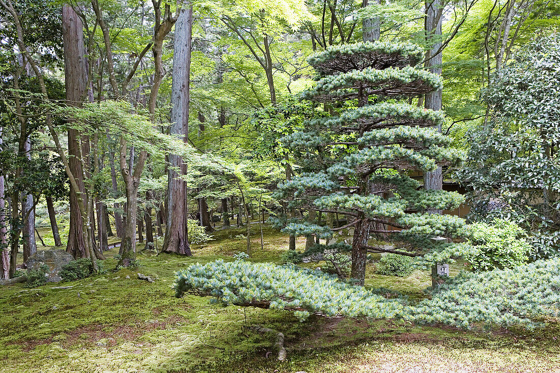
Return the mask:
[[177,273],[174,288],[177,297],[192,293],[213,296],[225,305],[286,309],[296,311],[300,320],[310,314],[400,318],[405,309],[400,301],[320,271],[242,260],[194,264]]

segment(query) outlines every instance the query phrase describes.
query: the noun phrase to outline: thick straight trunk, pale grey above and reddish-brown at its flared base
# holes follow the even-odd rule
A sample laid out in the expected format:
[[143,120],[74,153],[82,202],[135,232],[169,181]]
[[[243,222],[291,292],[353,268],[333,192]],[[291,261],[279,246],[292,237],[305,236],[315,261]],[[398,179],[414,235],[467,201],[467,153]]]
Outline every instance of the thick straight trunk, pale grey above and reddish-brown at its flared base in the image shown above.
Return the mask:
[[[190,90],[190,52],[192,42],[193,7],[181,9],[175,23],[173,57],[173,81],[171,86],[171,126],[170,133],[189,136],[189,90]],[[162,251],[182,255],[192,255],[188,239],[188,189],[185,181],[178,179],[178,172],[186,174],[183,157],[169,155],[167,186],[167,229]]]

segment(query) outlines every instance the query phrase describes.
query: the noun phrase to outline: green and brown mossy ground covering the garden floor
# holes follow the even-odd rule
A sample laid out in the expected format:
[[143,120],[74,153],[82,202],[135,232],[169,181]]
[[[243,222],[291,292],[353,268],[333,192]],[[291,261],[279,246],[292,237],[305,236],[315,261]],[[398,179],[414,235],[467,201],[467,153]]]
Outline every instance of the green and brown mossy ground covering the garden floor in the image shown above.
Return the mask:
[[[299,323],[288,311],[174,297],[171,286],[178,269],[233,260],[233,254],[245,250],[243,234],[235,228],[217,231],[189,258],[156,255],[139,244],[139,268],[34,289],[2,287],[0,371],[560,373],[560,325],[533,332],[465,332],[387,320],[312,316]],[[261,249],[255,230],[250,260],[281,263],[287,243],[287,236],[265,229]],[[297,241],[298,249],[304,245]],[[115,268],[117,252],[105,253],[105,268]],[[149,283],[137,273],[157,279]],[[422,271],[406,278],[379,276],[369,268],[367,285],[418,298],[430,277]],[[55,288],[60,286],[71,287]],[[270,353],[273,333],[255,333],[251,325],[286,335],[287,360],[278,362]]]

